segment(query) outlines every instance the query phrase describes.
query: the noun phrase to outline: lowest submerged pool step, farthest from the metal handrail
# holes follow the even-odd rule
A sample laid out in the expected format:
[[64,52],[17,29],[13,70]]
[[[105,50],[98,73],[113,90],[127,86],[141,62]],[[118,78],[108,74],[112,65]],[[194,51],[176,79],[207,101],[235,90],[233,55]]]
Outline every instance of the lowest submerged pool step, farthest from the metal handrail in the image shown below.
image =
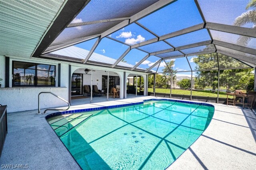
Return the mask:
[[92,114],[79,116],[76,119],[70,121],[69,123],[66,123],[65,125],[55,129],[54,131],[60,137],[63,134],[65,134],[66,132],[68,132],[69,130],[71,130],[72,128],[76,127],[78,124],[88,120],[88,118],[90,118],[91,116],[92,116]]

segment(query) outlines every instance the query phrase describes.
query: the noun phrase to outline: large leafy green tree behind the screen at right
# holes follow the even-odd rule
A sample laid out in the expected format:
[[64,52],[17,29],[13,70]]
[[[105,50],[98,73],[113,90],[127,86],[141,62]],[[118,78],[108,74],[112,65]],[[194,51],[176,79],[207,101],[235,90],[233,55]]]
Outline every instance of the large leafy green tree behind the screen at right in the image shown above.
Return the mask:
[[[221,87],[226,87],[227,90],[246,89],[248,80],[253,76],[252,69],[228,69],[248,67],[232,57],[218,53],[220,69],[219,82]],[[197,70],[218,69],[218,62],[216,53],[198,55],[194,58]],[[215,92],[218,87],[218,71],[197,71],[195,77],[195,88],[204,89],[205,87],[212,87]]]

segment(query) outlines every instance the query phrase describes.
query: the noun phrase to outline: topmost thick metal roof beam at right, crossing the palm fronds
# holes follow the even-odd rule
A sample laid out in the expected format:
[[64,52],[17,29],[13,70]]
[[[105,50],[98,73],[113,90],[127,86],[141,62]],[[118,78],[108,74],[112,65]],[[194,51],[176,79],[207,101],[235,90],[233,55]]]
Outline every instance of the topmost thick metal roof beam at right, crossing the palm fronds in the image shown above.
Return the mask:
[[253,28],[245,28],[245,27],[238,27],[238,26],[231,26],[225,24],[217,24],[213,22],[206,22],[205,28],[210,30],[217,30],[222,32],[228,32],[232,34],[238,34],[242,36],[248,36],[256,38],[256,30]]

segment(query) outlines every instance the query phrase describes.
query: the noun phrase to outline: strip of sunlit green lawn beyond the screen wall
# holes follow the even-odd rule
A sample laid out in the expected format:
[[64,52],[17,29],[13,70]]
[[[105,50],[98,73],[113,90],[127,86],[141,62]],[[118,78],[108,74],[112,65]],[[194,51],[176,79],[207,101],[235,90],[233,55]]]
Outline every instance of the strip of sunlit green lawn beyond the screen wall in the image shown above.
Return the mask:
[[[153,88],[148,88],[148,92],[153,92]],[[156,88],[156,93],[169,93],[170,89],[158,89]],[[172,94],[176,95],[190,95],[190,90],[182,90],[182,89],[172,89]],[[193,96],[205,96],[205,97],[217,97],[216,93],[212,93],[208,90],[201,90],[201,91],[192,91]],[[224,92],[219,92],[219,97],[226,98],[227,95]]]

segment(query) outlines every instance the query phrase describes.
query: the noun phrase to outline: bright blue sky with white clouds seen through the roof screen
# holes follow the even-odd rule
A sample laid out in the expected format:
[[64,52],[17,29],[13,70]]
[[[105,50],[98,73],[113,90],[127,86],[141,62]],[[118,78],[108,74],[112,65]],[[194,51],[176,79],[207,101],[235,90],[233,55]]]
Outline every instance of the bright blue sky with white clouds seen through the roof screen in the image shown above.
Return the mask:
[[[246,12],[245,7],[248,3],[248,0],[211,0],[210,3],[208,0],[199,0],[199,4],[202,8],[204,16],[209,22],[217,22],[221,24],[230,24],[232,25],[235,18],[240,16],[243,12]],[[82,18],[76,18],[76,20],[82,21]],[[190,26],[194,26],[203,22],[200,14],[196,8],[194,0],[178,0],[169,6],[162,8],[140,20],[138,20],[140,24],[145,26],[146,28],[153,31],[158,36],[162,36],[164,34],[168,34],[171,32],[175,32],[180,29],[188,28]],[[247,24],[245,27],[251,27],[252,24]],[[214,34],[216,39],[223,38],[223,34],[220,34],[219,37],[217,34]],[[119,40],[121,42],[125,42],[129,45],[133,45],[136,43],[144,42],[150,40],[152,38],[156,38],[150,32],[142,29],[137,24],[133,23],[125,28],[122,28],[112,34],[109,37]],[[232,42],[235,43],[237,36],[234,36]],[[198,30],[196,32],[192,32],[189,34],[185,34],[182,36],[170,38],[166,40],[174,46],[182,46],[190,43],[202,42],[210,40],[210,36],[208,35],[207,30]],[[256,39],[253,39],[252,42],[249,43],[250,46],[254,45]],[[75,46],[90,50],[92,45],[95,43],[96,39],[89,40],[87,42],[83,42],[77,44]],[[230,39],[231,41],[231,39]],[[255,46],[255,45],[254,45]],[[158,42],[155,45],[142,46],[141,49],[147,50],[149,52],[155,51],[156,49],[168,49],[170,46],[164,42]],[[108,38],[103,38],[99,43],[98,47],[94,52],[106,55],[108,57],[112,57],[114,59],[118,59],[124,51],[128,48],[127,45],[122,43],[115,42],[114,40],[110,40]],[[171,47],[170,47],[171,48]],[[158,51],[158,50],[157,50]],[[189,51],[189,50],[183,50]],[[140,61],[143,57],[145,57],[147,53],[140,51],[138,49],[131,50],[124,59],[135,65],[138,61]],[[192,56],[194,57],[194,56]],[[189,61],[192,57],[189,57]],[[150,56],[144,63],[142,63],[139,67],[148,68],[153,65],[160,58],[156,56]],[[178,71],[190,70],[188,63],[186,60],[176,59],[174,69]],[[192,68],[195,67],[193,60],[190,61]],[[165,63],[162,62],[160,64],[158,72],[161,72],[164,68]],[[152,70],[156,71],[156,67]],[[186,73],[184,73],[186,74]],[[190,74],[190,73],[187,73]]]

